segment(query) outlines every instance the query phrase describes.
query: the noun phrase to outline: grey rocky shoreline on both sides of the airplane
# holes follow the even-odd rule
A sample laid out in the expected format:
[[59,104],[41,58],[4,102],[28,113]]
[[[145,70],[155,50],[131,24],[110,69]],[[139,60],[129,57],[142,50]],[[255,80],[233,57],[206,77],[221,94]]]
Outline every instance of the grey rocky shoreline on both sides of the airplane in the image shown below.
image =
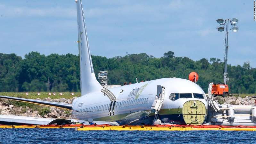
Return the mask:
[[[52,101],[52,102],[62,102],[62,103],[69,103],[71,104],[73,100],[78,97],[73,97],[71,99],[51,99],[45,98],[42,100],[45,101]],[[36,100],[41,100],[37,98]],[[255,100],[252,97],[213,97],[219,104],[233,104],[233,105],[255,105]],[[15,106],[10,103],[9,100],[1,99],[0,100],[0,114],[2,115],[15,115],[15,116],[32,116],[32,117],[45,117],[45,118],[62,118],[62,119],[70,119],[71,118],[71,111],[64,110],[61,108],[55,107],[47,107],[47,106],[38,106],[37,110],[33,108],[29,108],[28,106]]]

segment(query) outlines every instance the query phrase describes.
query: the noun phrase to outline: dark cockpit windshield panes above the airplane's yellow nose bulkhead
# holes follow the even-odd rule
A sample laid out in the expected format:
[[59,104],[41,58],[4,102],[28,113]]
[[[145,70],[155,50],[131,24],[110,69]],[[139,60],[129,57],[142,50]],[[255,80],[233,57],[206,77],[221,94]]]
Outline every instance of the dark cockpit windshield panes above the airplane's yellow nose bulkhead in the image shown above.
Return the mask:
[[204,96],[202,93],[171,93],[169,96],[169,99],[172,101],[188,98],[204,99]]

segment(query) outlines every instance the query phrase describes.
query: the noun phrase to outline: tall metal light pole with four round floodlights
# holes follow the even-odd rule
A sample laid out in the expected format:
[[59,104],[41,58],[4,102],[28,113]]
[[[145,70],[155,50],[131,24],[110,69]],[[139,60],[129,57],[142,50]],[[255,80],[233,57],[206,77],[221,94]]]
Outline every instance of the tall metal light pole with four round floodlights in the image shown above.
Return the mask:
[[[230,21],[230,24],[233,26],[231,28],[231,30],[233,32],[237,32],[238,31],[238,27],[236,26],[236,24],[239,22],[239,20],[237,20],[236,18],[233,18],[232,20],[226,19],[225,22],[223,19],[218,19],[216,20],[220,26],[217,28],[218,31],[222,32],[224,31],[224,27],[226,24],[226,37],[225,37],[225,55],[224,55],[224,84],[227,84],[227,81],[229,80],[229,78],[227,77],[227,49],[228,49],[228,22]],[[223,26],[222,26],[223,25]]]

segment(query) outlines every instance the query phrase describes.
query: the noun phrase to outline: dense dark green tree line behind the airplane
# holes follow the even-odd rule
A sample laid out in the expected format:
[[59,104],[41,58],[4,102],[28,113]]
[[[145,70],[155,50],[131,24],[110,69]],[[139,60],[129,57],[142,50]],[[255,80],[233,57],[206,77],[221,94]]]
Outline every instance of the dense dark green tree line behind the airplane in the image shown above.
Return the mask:
[[[166,52],[155,58],[145,53],[106,58],[92,56],[95,75],[108,71],[108,84],[136,83],[164,77],[188,79],[190,72],[199,74],[198,85],[207,92],[210,82],[223,82],[224,63],[220,59],[205,58],[194,61],[176,57]],[[243,66],[227,66],[229,91],[234,93],[256,92],[256,68],[249,62]],[[0,92],[79,92],[79,56],[30,52],[24,59],[16,54],[0,53]]]

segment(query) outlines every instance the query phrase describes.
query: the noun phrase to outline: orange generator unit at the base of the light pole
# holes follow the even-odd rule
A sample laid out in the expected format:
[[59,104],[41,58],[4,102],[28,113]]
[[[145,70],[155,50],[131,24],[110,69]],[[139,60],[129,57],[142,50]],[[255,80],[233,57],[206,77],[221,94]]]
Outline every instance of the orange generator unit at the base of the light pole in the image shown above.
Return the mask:
[[214,96],[225,97],[226,95],[228,95],[228,85],[227,84],[213,84],[211,94],[214,94]]

